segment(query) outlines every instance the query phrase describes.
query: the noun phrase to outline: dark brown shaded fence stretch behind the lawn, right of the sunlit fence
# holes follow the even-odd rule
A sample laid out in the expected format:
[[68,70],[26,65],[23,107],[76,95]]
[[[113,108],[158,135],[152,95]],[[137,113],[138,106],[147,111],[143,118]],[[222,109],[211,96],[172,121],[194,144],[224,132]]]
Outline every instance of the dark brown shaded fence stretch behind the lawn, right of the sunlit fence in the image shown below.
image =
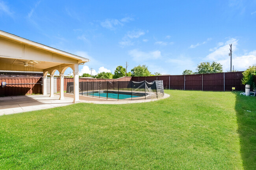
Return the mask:
[[231,91],[232,87],[235,87],[236,90],[245,89],[245,85],[241,83],[242,78],[242,71],[239,71],[211,74],[132,77],[132,81],[163,80],[165,89]]

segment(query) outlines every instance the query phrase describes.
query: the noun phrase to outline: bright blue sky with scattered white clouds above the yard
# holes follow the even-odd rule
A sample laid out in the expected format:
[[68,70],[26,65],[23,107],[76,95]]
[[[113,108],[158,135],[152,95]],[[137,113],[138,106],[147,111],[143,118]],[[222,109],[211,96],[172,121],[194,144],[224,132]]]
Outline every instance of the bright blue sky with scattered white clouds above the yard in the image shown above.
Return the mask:
[[126,61],[152,74],[204,61],[226,72],[231,43],[235,70],[256,64],[256,0],[0,0],[0,30],[88,58],[80,75]]

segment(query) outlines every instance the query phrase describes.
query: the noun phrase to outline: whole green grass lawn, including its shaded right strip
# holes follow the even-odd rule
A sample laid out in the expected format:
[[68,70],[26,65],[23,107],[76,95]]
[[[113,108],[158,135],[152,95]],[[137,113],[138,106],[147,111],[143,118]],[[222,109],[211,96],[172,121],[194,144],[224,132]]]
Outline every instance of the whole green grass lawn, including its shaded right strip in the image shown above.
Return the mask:
[[256,97],[165,92],[148,103],[0,116],[0,169],[256,167]]

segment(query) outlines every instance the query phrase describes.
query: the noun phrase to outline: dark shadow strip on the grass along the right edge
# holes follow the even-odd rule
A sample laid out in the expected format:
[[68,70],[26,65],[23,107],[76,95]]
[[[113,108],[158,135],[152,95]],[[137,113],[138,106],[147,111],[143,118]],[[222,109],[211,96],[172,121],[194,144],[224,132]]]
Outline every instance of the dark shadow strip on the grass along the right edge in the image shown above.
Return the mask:
[[245,170],[256,169],[256,97],[236,92],[236,116]]

